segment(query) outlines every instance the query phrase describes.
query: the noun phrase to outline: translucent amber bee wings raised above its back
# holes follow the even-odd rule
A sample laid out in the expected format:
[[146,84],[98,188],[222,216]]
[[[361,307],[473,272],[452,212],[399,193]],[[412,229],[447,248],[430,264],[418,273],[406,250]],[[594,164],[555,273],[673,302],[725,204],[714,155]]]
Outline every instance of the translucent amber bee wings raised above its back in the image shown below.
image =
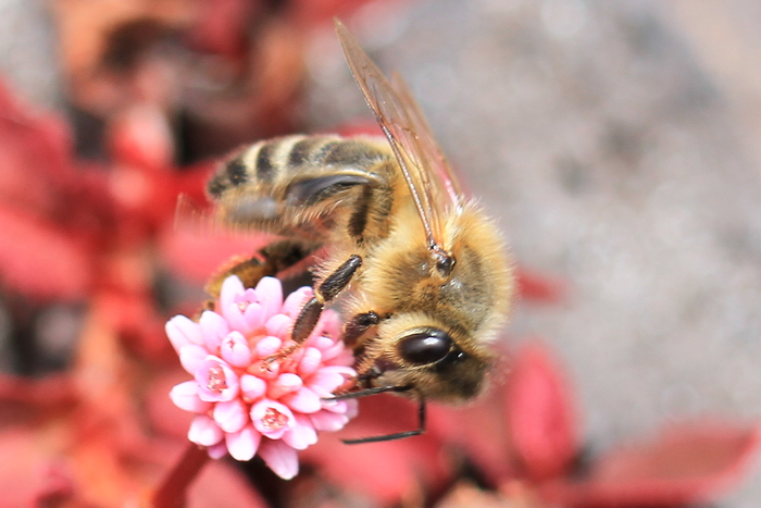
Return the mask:
[[336,34],[351,73],[388,138],[420,213],[429,246],[442,246],[441,212],[461,210],[459,185],[412,95],[396,77],[391,85],[349,29]]

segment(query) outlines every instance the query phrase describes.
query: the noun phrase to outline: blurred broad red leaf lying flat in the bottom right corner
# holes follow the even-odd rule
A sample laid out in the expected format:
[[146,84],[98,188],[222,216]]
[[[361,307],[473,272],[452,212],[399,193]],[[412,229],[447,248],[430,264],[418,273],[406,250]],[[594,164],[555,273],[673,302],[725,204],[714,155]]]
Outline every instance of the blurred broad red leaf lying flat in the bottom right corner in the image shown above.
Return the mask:
[[760,443],[758,425],[674,424],[603,456],[585,481],[547,485],[545,495],[578,508],[706,504],[740,480]]

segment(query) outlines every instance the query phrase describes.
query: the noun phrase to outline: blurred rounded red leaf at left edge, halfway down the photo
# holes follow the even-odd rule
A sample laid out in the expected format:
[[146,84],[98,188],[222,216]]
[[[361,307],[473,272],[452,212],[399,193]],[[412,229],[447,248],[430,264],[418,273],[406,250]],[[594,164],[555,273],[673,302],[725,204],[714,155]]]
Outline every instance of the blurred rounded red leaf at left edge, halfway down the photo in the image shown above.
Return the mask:
[[85,247],[50,224],[0,207],[0,284],[32,298],[83,298],[92,260]]

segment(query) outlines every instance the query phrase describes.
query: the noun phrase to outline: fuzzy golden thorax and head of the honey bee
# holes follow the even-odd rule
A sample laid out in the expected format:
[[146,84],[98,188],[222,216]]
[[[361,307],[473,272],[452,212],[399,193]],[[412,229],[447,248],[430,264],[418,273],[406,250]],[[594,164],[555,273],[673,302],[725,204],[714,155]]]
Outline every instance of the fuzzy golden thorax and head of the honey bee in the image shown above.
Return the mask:
[[[389,236],[366,253],[354,286],[360,298],[348,314],[373,310],[384,319],[361,344],[359,371],[369,386],[411,386],[413,397],[466,400],[482,391],[494,361],[487,346],[510,308],[511,265],[501,235],[473,202],[447,215],[441,247],[454,259],[448,274],[437,270],[422,228],[412,207],[399,210]],[[433,362],[406,358],[409,337],[429,331],[447,337],[447,355]]]

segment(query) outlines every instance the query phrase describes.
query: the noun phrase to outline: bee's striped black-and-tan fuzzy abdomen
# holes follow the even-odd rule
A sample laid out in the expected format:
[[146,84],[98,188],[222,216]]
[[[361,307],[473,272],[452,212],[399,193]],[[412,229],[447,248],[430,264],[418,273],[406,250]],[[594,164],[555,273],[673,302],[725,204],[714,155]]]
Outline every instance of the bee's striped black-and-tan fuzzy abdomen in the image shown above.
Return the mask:
[[385,236],[396,162],[380,138],[289,136],[260,141],[226,161],[208,186],[233,226],[323,243]]

